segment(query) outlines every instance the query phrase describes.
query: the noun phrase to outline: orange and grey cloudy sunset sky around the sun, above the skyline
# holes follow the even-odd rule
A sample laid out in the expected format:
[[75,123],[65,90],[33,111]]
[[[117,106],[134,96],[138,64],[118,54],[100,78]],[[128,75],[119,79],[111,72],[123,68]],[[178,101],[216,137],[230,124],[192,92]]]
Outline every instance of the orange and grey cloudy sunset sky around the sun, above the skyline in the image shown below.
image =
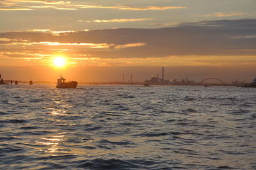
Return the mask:
[[[0,73],[53,80],[65,72],[102,81],[125,72],[141,81],[164,66],[168,79],[193,72],[198,81],[250,81],[256,74],[255,9],[255,0],[1,0]],[[57,56],[66,59],[65,67],[54,67]]]

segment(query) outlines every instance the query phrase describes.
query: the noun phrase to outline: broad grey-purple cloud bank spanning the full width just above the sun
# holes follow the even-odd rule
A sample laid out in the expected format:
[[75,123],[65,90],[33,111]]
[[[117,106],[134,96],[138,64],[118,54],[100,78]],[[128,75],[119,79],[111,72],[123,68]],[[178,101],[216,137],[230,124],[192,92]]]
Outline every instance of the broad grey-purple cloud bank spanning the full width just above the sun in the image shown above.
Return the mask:
[[[199,56],[216,56],[219,58],[216,61],[204,60],[208,63],[224,63],[226,60],[231,62],[232,58],[235,62],[236,58],[236,62],[247,62],[253,61],[256,56],[255,28],[256,19],[240,19],[188,22],[159,29],[55,31],[56,33],[48,29],[33,29],[0,33],[0,48],[6,52],[30,50],[29,54],[45,55],[61,51],[67,56],[82,55],[82,58],[161,59],[166,56],[187,56],[184,62],[189,63],[196,61],[191,56],[198,56],[198,59]],[[182,58],[175,59],[182,61]]]

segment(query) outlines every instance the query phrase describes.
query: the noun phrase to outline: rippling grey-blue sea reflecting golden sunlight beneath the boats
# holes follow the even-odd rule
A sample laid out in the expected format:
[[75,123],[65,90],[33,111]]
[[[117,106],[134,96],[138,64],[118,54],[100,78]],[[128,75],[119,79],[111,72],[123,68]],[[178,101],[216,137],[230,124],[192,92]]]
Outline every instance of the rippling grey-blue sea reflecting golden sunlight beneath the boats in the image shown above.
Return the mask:
[[256,169],[256,89],[0,86],[0,169]]

